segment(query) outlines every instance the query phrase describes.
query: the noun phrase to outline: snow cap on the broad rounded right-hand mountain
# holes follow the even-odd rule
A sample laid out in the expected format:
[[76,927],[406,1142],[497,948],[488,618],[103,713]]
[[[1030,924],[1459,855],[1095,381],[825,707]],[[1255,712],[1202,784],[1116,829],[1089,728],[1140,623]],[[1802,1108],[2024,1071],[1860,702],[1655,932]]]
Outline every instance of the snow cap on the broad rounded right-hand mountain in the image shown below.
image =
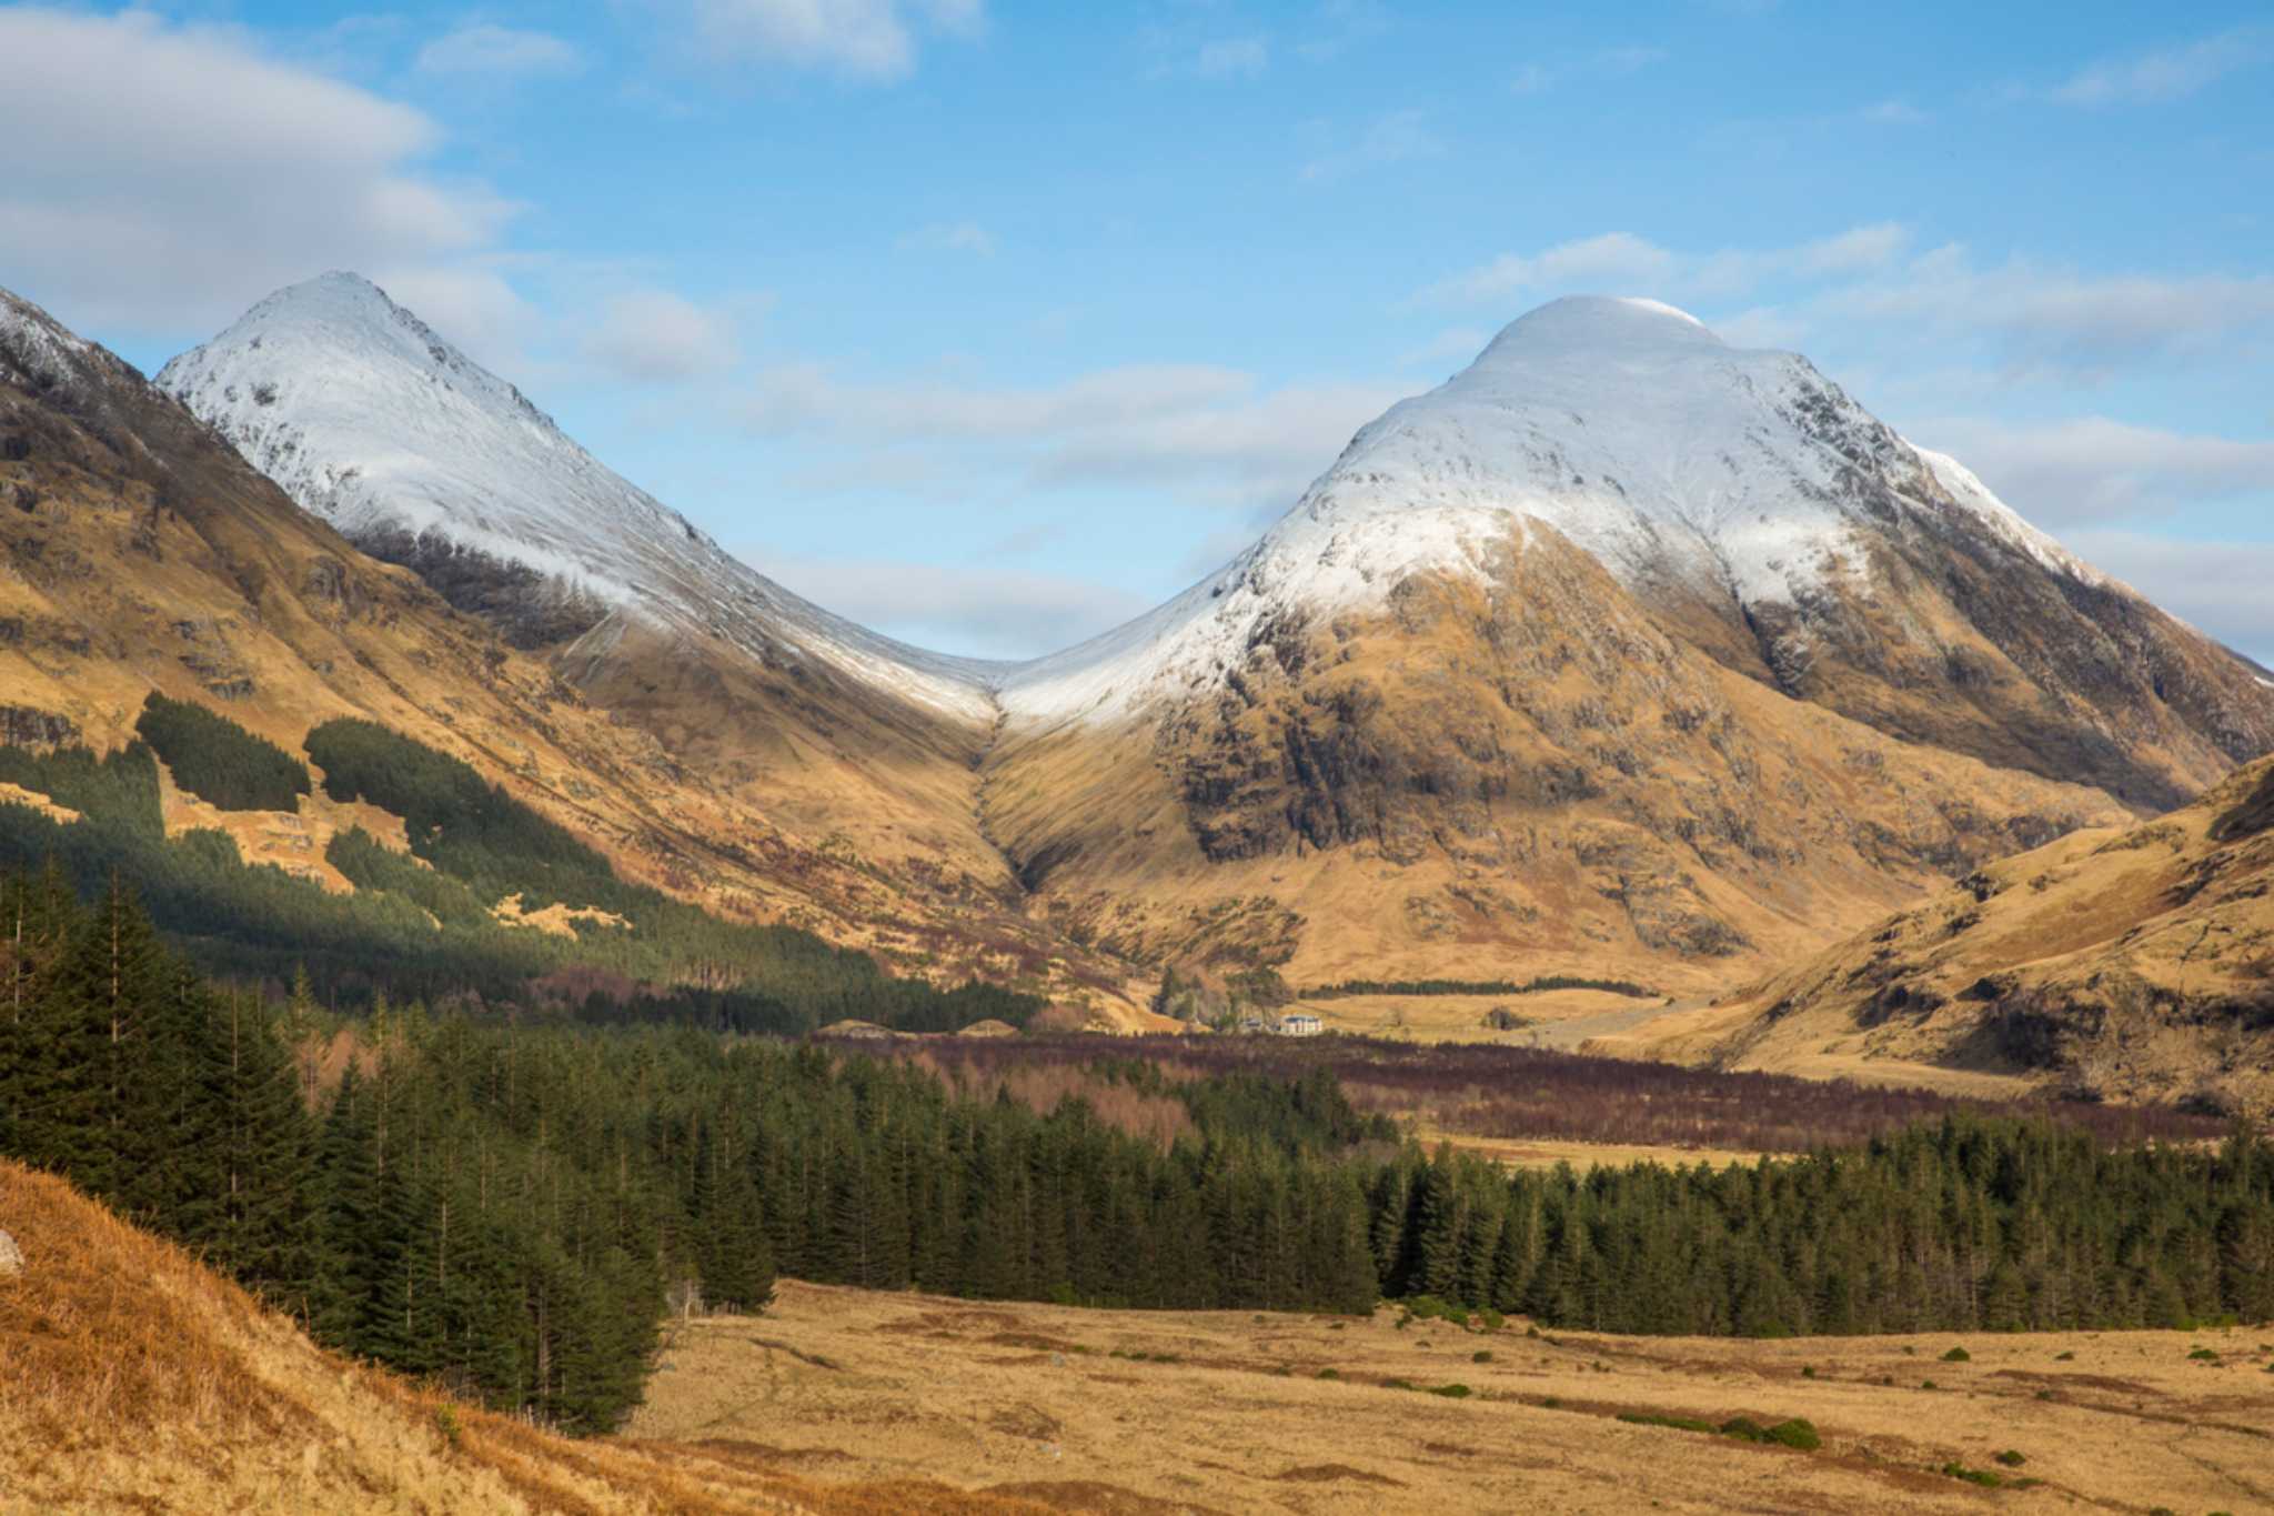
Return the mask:
[[1956,461],[1874,420],[1803,357],[1726,345],[1655,300],[1567,298],[1367,425],[1255,548],[1157,611],[1003,677],[1028,718],[1114,714],[1239,664],[1258,627],[1467,568],[1542,520],[1635,589],[1749,609],[1858,575],[1872,536],[1953,509],[2090,575]]

